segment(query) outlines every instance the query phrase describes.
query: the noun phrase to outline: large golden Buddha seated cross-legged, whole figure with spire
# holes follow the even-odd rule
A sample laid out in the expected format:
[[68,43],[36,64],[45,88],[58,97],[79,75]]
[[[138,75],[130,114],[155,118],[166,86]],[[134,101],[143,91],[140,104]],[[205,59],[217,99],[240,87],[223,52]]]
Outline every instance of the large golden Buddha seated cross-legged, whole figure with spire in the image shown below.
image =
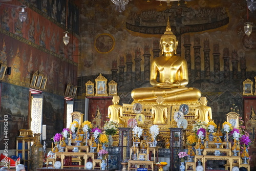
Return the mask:
[[188,84],[187,61],[176,56],[178,40],[171,31],[169,19],[160,44],[164,55],[154,58],[151,63],[150,83],[153,87],[134,89],[132,98],[145,102],[155,102],[158,96],[162,96],[164,102],[198,100],[200,90],[185,87]]

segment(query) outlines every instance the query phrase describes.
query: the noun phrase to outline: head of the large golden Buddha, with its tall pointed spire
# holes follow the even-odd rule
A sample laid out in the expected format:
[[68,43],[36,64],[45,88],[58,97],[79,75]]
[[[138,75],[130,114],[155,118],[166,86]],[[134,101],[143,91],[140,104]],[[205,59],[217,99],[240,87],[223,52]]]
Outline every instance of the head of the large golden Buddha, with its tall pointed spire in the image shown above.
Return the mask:
[[170,28],[169,24],[169,17],[167,20],[166,31],[161,36],[160,45],[162,47],[162,54],[163,53],[175,53],[177,54],[177,46],[178,40],[176,40],[176,36],[173,34],[172,29]]

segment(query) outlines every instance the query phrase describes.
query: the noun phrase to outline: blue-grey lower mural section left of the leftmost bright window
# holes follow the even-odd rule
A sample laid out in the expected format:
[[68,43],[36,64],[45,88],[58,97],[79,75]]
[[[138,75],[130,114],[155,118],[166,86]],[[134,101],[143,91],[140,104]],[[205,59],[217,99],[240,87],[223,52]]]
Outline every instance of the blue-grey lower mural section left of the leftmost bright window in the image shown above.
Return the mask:
[[[5,142],[4,139],[9,139],[8,149],[16,148],[15,140],[19,135],[18,130],[26,130],[28,127],[28,105],[28,88],[2,82],[0,108],[0,143],[3,144]],[[6,115],[8,117],[6,117]],[[8,138],[5,137],[6,132],[4,132],[5,121],[8,122]],[[1,145],[0,149],[4,149],[4,146]]]

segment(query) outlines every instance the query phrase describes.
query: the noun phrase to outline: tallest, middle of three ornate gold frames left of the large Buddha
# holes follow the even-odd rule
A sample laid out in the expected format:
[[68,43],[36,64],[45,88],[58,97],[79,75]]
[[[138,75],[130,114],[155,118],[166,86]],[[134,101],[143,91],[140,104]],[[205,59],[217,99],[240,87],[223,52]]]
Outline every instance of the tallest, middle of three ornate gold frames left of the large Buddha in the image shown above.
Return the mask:
[[103,75],[99,75],[96,79],[96,92],[95,92],[95,96],[108,96],[108,93],[106,93],[106,81],[108,81],[108,79],[106,79]]

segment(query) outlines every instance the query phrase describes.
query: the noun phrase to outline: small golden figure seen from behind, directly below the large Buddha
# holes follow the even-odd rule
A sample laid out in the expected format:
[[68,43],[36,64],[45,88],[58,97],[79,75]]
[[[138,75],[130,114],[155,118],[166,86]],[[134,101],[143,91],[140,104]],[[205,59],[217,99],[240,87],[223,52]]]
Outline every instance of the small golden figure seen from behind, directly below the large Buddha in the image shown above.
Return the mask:
[[167,119],[167,107],[162,104],[163,97],[157,97],[157,105],[152,107],[152,118],[154,119],[153,124],[165,124]]

